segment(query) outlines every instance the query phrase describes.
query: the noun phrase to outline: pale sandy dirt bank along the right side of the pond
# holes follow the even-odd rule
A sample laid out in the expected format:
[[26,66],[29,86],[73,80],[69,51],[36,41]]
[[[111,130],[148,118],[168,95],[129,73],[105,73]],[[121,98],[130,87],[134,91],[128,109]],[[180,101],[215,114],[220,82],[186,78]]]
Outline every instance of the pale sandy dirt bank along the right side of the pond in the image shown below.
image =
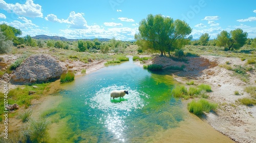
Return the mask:
[[[238,99],[251,97],[244,87],[255,86],[256,75],[254,71],[247,72],[249,81],[245,83],[234,76],[233,71],[218,66],[227,62],[234,66],[245,65],[247,61],[216,56],[189,57],[186,62],[173,61],[167,57],[155,57],[147,61],[148,64],[162,64],[163,68],[185,65],[184,71],[170,71],[170,74],[183,84],[194,80],[196,84],[211,85],[212,92],[208,100],[219,104],[216,113],[208,113],[202,120],[236,142],[256,142],[256,107],[247,107],[238,102]],[[234,91],[240,94],[235,95]]]

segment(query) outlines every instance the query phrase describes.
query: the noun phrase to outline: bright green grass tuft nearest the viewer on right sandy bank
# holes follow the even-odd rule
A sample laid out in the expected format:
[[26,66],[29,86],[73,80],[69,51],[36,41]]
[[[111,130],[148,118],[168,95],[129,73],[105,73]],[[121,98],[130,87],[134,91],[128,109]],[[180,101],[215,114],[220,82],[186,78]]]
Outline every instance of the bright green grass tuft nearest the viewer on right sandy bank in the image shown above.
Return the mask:
[[196,115],[201,115],[203,114],[203,112],[216,110],[217,107],[218,107],[217,103],[210,103],[205,99],[200,99],[199,101],[193,100],[187,104],[188,111]]

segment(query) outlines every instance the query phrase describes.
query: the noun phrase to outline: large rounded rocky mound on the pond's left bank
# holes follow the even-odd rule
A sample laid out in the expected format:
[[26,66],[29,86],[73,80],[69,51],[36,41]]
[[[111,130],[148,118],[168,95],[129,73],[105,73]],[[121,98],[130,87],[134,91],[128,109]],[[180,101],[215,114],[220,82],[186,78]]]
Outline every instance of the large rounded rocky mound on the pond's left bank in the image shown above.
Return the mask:
[[33,55],[14,70],[11,74],[11,82],[22,84],[47,82],[58,79],[65,71],[67,67],[55,58],[44,54]]

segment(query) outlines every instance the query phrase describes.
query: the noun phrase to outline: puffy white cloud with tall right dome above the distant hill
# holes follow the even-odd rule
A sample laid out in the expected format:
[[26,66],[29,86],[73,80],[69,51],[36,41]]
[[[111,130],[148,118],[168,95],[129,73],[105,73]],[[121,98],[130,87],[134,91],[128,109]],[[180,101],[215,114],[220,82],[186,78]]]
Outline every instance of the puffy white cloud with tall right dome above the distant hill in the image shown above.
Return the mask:
[[89,26],[87,25],[86,19],[83,18],[84,13],[75,13],[74,11],[70,12],[68,19],[59,19],[54,14],[48,14],[45,19],[51,22],[59,22],[59,23],[68,23],[69,28],[74,29],[87,29]]

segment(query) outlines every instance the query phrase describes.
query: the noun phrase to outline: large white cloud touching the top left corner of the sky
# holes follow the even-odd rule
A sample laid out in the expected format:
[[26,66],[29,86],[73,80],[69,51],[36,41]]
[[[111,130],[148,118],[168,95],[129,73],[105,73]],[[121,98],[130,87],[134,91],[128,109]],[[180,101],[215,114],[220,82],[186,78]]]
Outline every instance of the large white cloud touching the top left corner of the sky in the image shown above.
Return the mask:
[[15,13],[19,16],[42,17],[42,9],[38,4],[34,4],[33,0],[27,0],[25,4],[7,4],[0,0],[0,9],[4,9],[9,13]]

